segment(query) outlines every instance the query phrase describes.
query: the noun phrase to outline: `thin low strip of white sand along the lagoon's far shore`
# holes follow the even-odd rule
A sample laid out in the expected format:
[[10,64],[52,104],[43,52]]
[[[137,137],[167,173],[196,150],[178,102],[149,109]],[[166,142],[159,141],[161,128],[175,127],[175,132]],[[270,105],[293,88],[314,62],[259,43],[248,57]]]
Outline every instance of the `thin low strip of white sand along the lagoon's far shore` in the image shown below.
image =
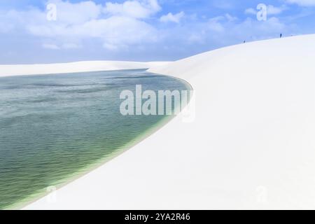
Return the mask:
[[91,61],[71,62],[63,64],[0,64],[0,77],[24,76],[51,73],[74,73],[84,71],[109,71],[122,69],[148,69],[152,66],[162,66],[169,62],[119,62]]

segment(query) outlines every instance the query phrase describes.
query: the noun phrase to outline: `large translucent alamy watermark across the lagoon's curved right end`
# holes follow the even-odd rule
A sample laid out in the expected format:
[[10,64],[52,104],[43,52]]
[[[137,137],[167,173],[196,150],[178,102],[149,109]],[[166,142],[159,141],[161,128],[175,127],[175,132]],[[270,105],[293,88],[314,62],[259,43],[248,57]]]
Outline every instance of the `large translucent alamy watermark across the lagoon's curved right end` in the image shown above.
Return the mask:
[[135,92],[120,93],[120,113],[123,116],[172,116],[181,115],[184,122],[195,119],[195,92],[193,90],[143,91],[136,85]]

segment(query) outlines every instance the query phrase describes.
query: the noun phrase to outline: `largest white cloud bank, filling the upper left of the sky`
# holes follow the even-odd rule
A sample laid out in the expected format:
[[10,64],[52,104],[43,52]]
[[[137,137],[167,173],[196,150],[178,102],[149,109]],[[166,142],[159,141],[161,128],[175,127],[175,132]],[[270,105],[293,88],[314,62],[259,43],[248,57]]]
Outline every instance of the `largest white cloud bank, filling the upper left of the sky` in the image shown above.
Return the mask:
[[93,1],[70,3],[51,0],[57,8],[57,20],[48,21],[45,10],[10,10],[0,13],[0,32],[23,31],[43,40],[45,49],[81,48],[85,40],[94,38],[107,50],[128,45],[154,42],[155,28],[144,20],[160,10],[157,0],[125,1],[97,5]]

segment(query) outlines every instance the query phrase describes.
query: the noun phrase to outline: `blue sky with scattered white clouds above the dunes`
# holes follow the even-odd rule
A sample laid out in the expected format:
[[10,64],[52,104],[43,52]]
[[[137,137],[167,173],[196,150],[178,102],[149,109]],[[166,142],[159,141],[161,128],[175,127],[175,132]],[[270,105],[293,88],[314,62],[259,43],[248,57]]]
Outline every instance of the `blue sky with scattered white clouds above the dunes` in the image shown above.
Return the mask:
[[[257,19],[259,3],[267,7],[267,20]],[[175,60],[243,41],[312,33],[315,0],[0,1],[0,64]]]

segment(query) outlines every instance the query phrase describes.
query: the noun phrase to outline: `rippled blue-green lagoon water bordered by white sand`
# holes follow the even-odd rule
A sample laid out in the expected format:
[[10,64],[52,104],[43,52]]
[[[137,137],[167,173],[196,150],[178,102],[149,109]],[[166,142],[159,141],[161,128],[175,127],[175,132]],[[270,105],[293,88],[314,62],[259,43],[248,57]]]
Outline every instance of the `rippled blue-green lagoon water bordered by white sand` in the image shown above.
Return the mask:
[[0,209],[45,195],[137,144],[168,116],[122,116],[120,92],[187,90],[145,70],[0,78]]

